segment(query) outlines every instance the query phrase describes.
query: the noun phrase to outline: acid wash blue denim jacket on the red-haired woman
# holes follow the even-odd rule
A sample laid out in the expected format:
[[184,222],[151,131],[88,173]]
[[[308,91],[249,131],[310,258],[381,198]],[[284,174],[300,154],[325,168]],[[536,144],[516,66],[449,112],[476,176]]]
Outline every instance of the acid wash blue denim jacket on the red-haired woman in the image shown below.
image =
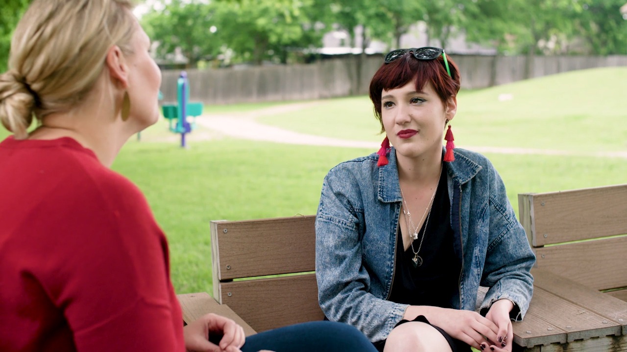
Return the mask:
[[[378,155],[340,163],[329,171],[315,220],[316,277],[320,308],[331,321],[360,329],[371,341],[386,339],[407,304],[387,301],[396,268],[401,211],[396,151],[377,167]],[[481,304],[515,303],[522,320],[533,293],[535,256],[490,161],[455,149],[447,165],[451,227],[461,261],[459,291],[451,306],[475,310],[479,286],[490,287]]]

